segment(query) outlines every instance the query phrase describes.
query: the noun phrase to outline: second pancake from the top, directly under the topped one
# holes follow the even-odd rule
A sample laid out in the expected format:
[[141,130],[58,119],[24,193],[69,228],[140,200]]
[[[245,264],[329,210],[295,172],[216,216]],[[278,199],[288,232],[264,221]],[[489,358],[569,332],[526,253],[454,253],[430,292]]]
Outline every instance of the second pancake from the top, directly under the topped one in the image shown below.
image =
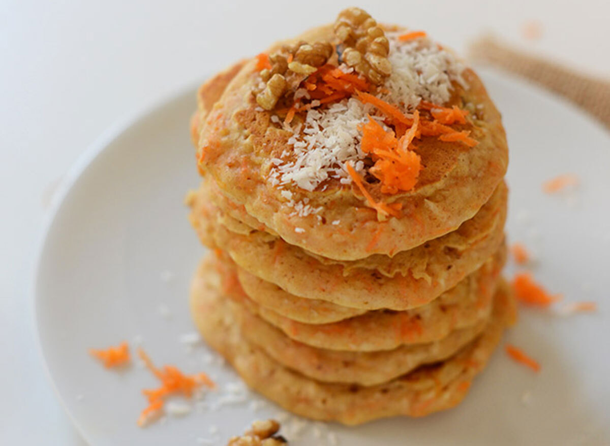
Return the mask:
[[425,305],[478,269],[504,238],[503,183],[458,230],[392,258],[371,255],[354,262],[314,257],[239,221],[234,220],[229,230],[231,219],[210,203],[207,194],[204,184],[187,198],[190,221],[203,244],[224,250],[240,267],[290,294],[364,310],[402,311]]

